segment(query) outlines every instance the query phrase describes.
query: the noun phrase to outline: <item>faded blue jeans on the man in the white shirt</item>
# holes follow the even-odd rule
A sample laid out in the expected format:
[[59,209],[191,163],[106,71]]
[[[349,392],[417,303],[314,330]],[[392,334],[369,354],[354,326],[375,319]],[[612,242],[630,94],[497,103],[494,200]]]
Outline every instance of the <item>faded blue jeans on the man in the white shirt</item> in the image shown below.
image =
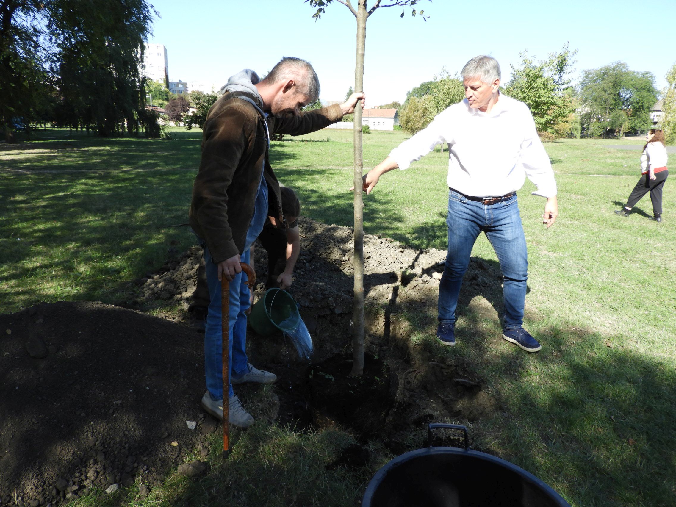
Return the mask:
[[483,231],[493,245],[504,276],[504,329],[523,324],[526,299],[528,254],[516,195],[486,206],[457,192],[448,194],[448,255],[439,283],[439,322],[453,324],[462,276],[467,270],[472,247]]

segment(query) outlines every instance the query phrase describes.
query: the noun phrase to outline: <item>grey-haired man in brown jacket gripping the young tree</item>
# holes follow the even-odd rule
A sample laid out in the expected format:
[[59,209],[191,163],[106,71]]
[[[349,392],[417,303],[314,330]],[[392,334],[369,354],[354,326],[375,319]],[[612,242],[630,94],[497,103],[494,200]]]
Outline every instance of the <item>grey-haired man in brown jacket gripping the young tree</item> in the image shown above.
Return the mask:
[[[201,162],[190,207],[191,227],[204,248],[211,299],[204,333],[207,391],[202,406],[217,418],[223,417],[222,276],[230,281],[231,384],[276,381],[276,375],[247,361],[249,290],[239,265],[249,262],[249,247],[268,215],[286,224],[279,182],[268,159],[270,135],[319,130],[354,112],[364,98],[362,93],[354,93],[341,105],[300,112],[319,97],[319,80],[308,62],[292,57],[283,58],[262,81],[256,72],[245,69],[231,77],[223,91],[203,126]],[[228,408],[232,425],[249,427],[254,423],[232,385]]]

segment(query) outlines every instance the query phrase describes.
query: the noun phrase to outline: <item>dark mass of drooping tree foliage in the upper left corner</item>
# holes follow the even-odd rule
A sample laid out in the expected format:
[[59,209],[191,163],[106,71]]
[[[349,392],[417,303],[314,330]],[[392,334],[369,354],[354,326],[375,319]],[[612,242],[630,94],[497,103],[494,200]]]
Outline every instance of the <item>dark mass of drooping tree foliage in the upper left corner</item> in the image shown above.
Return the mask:
[[[100,135],[138,132],[139,76],[151,23],[145,0],[0,0],[0,123],[35,118],[36,97],[58,90],[55,120]],[[51,90],[51,91],[50,91]]]

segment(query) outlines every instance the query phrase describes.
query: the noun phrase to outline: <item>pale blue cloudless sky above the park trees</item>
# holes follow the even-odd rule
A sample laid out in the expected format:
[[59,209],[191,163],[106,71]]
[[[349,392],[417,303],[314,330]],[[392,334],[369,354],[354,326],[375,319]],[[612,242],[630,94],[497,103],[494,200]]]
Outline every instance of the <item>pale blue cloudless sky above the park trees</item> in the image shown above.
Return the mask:
[[[161,18],[151,43],[167,48],[171,80],[220,85],[243,68],[264,74],[283,56],[312,63],[324,101],[345,97],[354,84],[356,20],[334,2],[321,20],[303,0],[155,0]],[[372,2],[369,2],[369,4]],[[646,8],[642,8],[646,5]],[[421,1],[430,18],[410,9],[378,9],[366,24],[364,91],[367,105],[404,101],[406,92],[442,68],[459,72],[468,59],[498,59],[502,79],[527,49],[544,59],[570,42],[572,76],[612,62],[655,75],[659,89],[676,62],[676,0]]]

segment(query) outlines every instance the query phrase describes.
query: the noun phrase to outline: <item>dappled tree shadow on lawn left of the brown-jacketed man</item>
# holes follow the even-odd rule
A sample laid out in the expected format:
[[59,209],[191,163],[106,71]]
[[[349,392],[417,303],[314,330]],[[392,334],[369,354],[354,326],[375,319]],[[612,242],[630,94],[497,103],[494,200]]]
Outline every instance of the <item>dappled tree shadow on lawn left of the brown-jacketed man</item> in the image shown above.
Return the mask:
[[[86,141],[74,142],[94,146]],[[162,266],[172,252],[195,243],[187,227],[175,227],[188,221],[194,173],[162,168],[183,166],[185,145],[194,152],[197,169],[199,143],[95,141],[95,149],[80,150],[76,160],[62,157],[60,150],[55,155],[31,155],[56,172],[0,172],[2,278],[15,291],[3,295],[3,307],[12,305],[5,311],[58,299],[117,302],[128,292],[128,283]],[[161,153],[163,146],[172,144],[180,144],[180,149]],[[155,154],[144,153],[146,146]],[[129,166],[157,163],[158,170],[120,172],[120,156]],[[279,158],[290,160],[295,155],[279,153]],[[21,168],[18,162],[12,166]],[[74,167],[81,167],[82,173],[58,172]],[[26,283],[31,277],[34,281]]]

